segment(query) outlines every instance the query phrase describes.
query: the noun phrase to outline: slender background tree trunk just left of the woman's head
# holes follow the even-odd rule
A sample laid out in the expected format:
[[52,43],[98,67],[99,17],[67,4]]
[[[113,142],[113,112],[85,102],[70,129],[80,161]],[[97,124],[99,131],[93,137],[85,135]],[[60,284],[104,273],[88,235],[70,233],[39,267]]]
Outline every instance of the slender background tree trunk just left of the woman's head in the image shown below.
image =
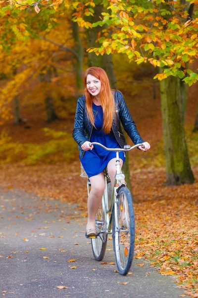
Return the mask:
[[83,92],[83,46],[79,36],[79,26],[76,22],[72,22],[72,33],[75,41],[74,50],[77,53],[76,61],[74,63],[74,70],[76,74],[76,97],[82,95]]

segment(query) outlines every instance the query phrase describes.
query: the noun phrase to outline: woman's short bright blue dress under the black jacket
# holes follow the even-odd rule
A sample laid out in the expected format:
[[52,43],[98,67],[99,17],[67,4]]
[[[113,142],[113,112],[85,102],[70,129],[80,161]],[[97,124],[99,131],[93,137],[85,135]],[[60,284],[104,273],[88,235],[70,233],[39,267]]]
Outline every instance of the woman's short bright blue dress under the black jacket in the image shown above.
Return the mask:
[[[109,134],[105,134],[102,130],[103,124],[103,111],[101,106],[97,106],[93,103],[93,108],[98,112],[95,119],[95,127],[93,127],[90,142],[98,142],[107,148],[120,148],[117,143],[113,131],[111,130]],[[116,157],[116,152],[107,151],[100,146],[95,145],[92,150],[85,151],[83,158],[80,161],[88,175],[92,177],[101,173],[108,162]],[[119,157],[125,161],[125,153],[119,152]]]

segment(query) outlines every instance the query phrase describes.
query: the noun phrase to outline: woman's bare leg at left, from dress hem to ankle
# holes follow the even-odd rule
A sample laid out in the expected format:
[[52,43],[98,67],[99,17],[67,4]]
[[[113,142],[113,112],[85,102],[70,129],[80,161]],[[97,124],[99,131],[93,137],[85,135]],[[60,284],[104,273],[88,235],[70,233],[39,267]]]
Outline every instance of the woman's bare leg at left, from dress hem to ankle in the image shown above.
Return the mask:
[[90,228],[95,228],[96,214],[102,202],[102,195],[105,188],[104,173],[99,173],[96,176],[90,177],[91,181],[91,191],[88,197],[87,207],[88,207],[88,222],[87,230]]

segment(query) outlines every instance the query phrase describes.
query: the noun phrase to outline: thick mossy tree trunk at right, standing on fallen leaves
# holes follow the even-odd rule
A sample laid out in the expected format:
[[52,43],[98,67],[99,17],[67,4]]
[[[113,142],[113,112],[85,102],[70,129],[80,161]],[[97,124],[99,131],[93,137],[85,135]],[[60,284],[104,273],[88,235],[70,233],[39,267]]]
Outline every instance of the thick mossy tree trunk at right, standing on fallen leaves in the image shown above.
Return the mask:
[[179,77],[168,76],[160,81],[167,185],[193,183],[184,131]]

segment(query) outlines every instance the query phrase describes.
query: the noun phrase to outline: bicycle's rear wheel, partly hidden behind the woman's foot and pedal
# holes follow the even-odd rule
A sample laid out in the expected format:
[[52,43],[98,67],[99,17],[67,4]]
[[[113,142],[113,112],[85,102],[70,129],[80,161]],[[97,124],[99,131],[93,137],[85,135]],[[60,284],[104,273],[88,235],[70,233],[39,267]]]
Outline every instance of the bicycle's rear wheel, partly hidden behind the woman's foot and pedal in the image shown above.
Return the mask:
[[97,237],[92,238],[92,251],[97,261],[101,261],[106,251],[106,222],[105,222],[105,207],[101,204],[96,215],[96,230]]

